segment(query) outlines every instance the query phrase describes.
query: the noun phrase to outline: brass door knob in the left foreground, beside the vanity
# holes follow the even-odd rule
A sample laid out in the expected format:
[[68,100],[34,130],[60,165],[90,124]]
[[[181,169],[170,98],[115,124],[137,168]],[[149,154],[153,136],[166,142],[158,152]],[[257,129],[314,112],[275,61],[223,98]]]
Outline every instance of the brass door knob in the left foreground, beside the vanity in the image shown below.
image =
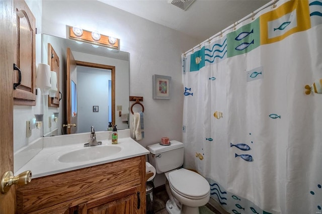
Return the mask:
[[1,193],[6,193],[9,191],[11,185],[26,185],[31,181],[31,171],[25,171],[17,176],[14,176],[12,171],[5,172],[1,179]]

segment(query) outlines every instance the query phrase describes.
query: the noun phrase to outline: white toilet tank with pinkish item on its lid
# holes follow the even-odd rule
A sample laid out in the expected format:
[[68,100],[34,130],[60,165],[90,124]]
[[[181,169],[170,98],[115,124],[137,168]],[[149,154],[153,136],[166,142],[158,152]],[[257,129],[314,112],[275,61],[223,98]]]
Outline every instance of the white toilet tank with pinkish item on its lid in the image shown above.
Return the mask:
[[171,171],[183,164],[184,145],[179,141],[170,141],[169,146],[152,144],[146,149],[150,151],[149,162],[157,174]]

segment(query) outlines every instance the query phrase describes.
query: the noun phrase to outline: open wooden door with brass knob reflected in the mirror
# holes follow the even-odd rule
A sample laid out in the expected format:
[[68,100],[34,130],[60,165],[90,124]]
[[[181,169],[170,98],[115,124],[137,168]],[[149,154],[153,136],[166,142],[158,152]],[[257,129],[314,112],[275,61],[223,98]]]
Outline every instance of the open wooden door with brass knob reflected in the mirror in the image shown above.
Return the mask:
[[[66,114],[67,114],[67,134],[77,133],[77,98],[75,97],[77,86],[76,61],[67,48],[67,76],[66,76]],[[72,90],[73,89],[73,90]],[[69,127],[69,128],[68,128]]]

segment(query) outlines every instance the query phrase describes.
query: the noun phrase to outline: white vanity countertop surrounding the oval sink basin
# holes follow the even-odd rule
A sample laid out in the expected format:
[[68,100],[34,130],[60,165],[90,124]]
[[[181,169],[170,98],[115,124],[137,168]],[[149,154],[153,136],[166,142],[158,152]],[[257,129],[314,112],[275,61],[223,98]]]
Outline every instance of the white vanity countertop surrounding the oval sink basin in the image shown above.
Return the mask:
[[[106,132],[107,133],[107,132]],[[69,136],[70,138],[71,136]],[[58,138],[57,138],[58,139]],[[52,141],[53,139],[51,139]],[[20,169],[15,171],[15,175],[20,174],[26,170],[31,170],[32,178],[53,175],[56,173],[67,172],[75,169],[81,169],[85,167],[95,166],[104,163],[110,163],[113,161],[123,160],[126,158],[137,157],[141,155],[149,154],[149,151],[142,147],[139,143],[131,139],[130,137],[123,137],[118,139],[118,144],[112,144],[110,139],[102,140],[98,139],[98,141],[102,141],[102,145],[98,145],[95,147],[101,146],[117,146],[121,148],[121,151],[109,155],[108,157],[89,160],[89,161],[81,161],[81,162],[71,162],[71,163],[63,163],[59,162],[58,159],[62,155],[76,151],[79,149],[90,149],[92,147],[84,147],[84,142],[82,143],[69,143],[61,145],[61,138],[59,138],[60,142],[58,142],[57,146],[43,146],[39,152],[34,155],[26,164],[24,164]],[[51,142],[51,144],[53,144]],[[34,150],[34,148],[33,148]],[[21,154],[24,154],[23,152]],[[18,156],[18,155],[17,155]],[[16,154],[15,154],[16,158]]]

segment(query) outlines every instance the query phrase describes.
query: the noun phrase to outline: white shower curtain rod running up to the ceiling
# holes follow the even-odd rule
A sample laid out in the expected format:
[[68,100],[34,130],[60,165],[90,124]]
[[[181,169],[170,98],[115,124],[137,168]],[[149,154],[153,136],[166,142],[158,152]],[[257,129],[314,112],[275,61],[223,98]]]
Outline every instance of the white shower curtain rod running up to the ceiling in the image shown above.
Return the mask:
[[256,14],[258,14],[260,11],[270,7],[273,5],[273,7],[276,7],[276,3],[279,2],[280,0],[273,0],[269,3],[267,3],[266,5],[262,6],[261,8],[257,9],[256,11],[254,11],[252,14],[249,14],[248,16],[244,17],[243,19],[233,23],[232,25],[228,26],[227,28],[223,29],[222,31],[220,31],[219,33],[213,35],[212,37],[210,37],[209,39],[203,41],[202,43],[199,43],[198,45],[196,45],[195,47],[191,48],[190,50],[186,51],[183,53],[184,56],[186,56],[186,54],[193,52],[196,48],[201,48],[201,44],[204,44],[206,42],[210,42],[213,38],[222,35],[224,32],[226,32],[227,30],[236,27],[238,24],[240,24],[241,22],[244,22],[245,20],[249,19],[249,18],[253,18]]

